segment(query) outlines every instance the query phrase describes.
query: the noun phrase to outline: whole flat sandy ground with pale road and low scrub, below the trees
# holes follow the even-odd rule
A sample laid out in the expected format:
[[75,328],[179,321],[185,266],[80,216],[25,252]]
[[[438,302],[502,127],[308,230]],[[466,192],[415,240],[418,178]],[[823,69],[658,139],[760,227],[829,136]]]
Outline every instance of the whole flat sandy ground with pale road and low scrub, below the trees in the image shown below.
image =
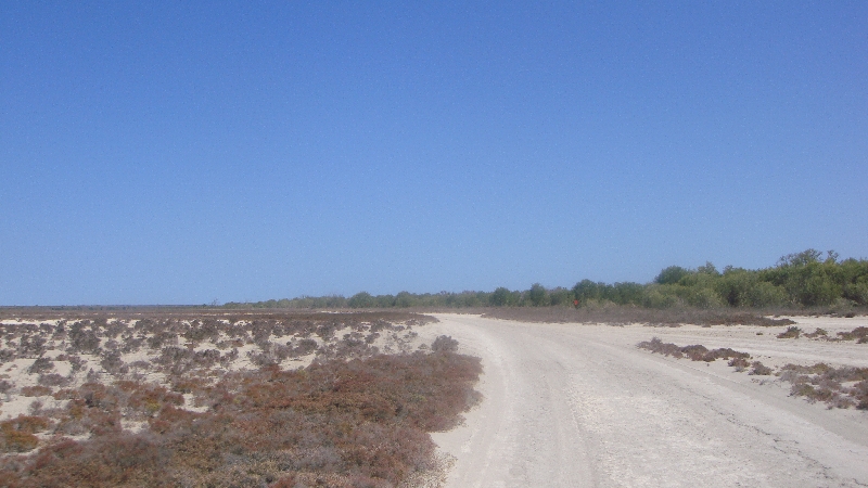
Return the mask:
[[[0,485],[157,486],[145,481],[161,471],[175,486],[868,485],[864,316],[206,316],[4,319]],[[376,388],[388,395],[369,397]],[[322,400],[335,391],[349,397]],[[118,446],[141,473],[113,471],[124,460],[101,449]]]

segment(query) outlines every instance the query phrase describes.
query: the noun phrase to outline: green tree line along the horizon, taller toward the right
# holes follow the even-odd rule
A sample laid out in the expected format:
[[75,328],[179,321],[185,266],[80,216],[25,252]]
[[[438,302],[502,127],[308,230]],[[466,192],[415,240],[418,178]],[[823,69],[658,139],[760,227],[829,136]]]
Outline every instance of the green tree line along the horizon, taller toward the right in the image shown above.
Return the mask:
[[572,288],[498,287],[493,292],[441,292],[397,295],[357,293],[302,296],[257,303],[228,303],[227,308],[471,308],[631,305],[647,308],[769,308],[868,305],[868,260],[840,259],[829,251],[807,249],[781,257],[777,265],[749,270],[711,262],[694,269],[671,266],[650,283],[582,280]]

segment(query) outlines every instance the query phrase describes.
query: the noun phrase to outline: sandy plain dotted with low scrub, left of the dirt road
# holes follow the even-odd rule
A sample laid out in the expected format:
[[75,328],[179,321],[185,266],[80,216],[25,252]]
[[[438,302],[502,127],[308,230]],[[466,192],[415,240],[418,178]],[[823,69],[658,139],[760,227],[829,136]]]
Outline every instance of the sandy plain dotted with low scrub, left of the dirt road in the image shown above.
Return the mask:
[[434,475],[429,433],[478,401],[481,365],[449,337],[414,341],[433,320],[3,320],[0,486],[393,487]]

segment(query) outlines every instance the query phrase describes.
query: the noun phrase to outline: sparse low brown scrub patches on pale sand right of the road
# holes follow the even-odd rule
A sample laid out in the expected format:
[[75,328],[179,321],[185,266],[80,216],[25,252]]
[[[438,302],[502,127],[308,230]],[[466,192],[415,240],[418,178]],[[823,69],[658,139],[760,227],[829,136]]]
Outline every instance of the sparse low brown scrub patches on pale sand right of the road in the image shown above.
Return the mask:
[[[794,329],[797,328],[789,328],[788,332],[779,334],[778,338],[797,337],[797,333],[793,332]],[[857,328],[854,333],[861,329],[865,328]],[[847,336],[854,333],[841,333],[840,335]],[[815,337],[824,335],[817,334]],[[748,374],[751,375],[775,375],[780,381],[790,383],[791,396],[805,397],[810,402],[822,401],[830,409],[845,409],[855,406],[859,410],[868,410],[868,368],[833,368],[818,362],[813,365],[788,363],[775,371],[760,361],[750,361],[751,355],[746,352],[739,352],[730,348],[709,350],[702,345],[679,347],[672,343],[663,343],[658,337],[641,342],[637,344],[637,347],[679,359],[686,357],[692,361],[712,362],[717,359],[729,359],[727,364],[733,367],[738,372],[748,370]]]

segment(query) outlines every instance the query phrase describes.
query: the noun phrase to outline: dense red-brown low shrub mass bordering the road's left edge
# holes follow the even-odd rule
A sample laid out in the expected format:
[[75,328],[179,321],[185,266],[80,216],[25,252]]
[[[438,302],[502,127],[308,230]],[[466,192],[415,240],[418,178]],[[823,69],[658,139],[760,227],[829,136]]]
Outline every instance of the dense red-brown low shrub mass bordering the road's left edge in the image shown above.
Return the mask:
[[[295,371],[269,365],[200,389],[210,406],[204,413],[179,409],[180,395],[161,386],[88,383],[64,391],[71,400],[56,432],[84,429],[91,440],[4,459],[0,481],[396,486],[436,466],[427,433],[456,425],[478,400],[472,386],[480,372],[478,359],[448,351],[323,361]],[[122,416],[137,414],[146,416],[148,428],[123,432]]]

